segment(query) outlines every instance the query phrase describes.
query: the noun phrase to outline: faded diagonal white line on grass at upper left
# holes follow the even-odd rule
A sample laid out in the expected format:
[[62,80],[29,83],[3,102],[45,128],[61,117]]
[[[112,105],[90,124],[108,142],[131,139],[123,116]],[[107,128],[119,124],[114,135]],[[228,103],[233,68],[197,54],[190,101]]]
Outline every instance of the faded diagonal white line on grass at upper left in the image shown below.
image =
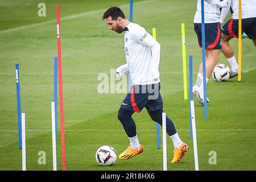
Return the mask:
[[[155,0],[150,0],[150,1],[155,1]],[[134,4],[145,3],[145,2],[148,3],[149,1],[134,2]],[[120,5],[120,7],[126,7],[126,6],[130,6],[130,4]],[[94,13],[104,13],[105,11],[106,11],[106,9],[88,11],[88,12],[84,12],[84,13],[63,16],[60,20],[63,21],[63,20],[69,20],[69,19],[76,19],[76,18],[80,18],[81,16],[86,16],[86,15],[90,15],[90,14],[94,14]],[[16,27],[16,28],[6,29],[6,30],[0,31],[0,33],[14,32],[14,31],[18,31],[18,30],[27,29],[27,28],[43,26],[43,25],[49,24],[49,23],[56,23],[56,19],[48,20],[46,22],[28,24],[28,25],[24,25],[24,26],[20,26],[20,27]]]

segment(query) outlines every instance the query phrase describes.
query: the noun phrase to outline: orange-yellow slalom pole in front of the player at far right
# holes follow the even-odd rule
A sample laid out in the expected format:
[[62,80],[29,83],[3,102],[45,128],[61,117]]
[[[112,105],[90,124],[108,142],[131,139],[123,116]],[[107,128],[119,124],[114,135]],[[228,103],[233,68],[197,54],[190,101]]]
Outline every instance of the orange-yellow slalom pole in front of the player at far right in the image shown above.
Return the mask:
[[238,81],[242,78],[242,3],[239,0],[239,20],[238,20]]

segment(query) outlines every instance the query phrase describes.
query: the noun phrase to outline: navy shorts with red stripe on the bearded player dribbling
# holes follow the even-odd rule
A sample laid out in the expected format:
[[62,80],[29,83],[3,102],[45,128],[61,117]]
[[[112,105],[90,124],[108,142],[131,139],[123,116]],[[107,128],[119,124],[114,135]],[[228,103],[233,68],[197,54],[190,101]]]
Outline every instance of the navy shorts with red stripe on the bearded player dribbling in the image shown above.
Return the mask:
[[121,104],[121,108],[140,113],[146,107],[150,111],[163,109],[160,82],[150,85],[133,85]]

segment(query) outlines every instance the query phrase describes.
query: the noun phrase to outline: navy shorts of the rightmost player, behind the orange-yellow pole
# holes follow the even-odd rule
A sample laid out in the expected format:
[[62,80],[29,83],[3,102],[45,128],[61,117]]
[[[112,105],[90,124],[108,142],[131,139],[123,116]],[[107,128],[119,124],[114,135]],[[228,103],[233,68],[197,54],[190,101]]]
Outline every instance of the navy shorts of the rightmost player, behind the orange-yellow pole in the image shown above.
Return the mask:
[[[256,39],[256,18],[242,19],[242,34],[250,39]],[[238,19],[230,19],[221,28],[221,33],[238,38]]]

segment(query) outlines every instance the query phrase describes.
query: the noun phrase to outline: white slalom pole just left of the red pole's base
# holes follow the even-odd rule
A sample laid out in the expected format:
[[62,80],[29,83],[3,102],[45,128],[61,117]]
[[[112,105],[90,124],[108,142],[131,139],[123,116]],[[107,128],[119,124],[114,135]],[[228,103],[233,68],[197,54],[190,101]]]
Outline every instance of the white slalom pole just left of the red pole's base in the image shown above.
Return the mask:
[[53,171],[57,171],[57,159],[56,159],[56,131],[55,131],[55,102],[51,102],[52,110],[52,162]]

